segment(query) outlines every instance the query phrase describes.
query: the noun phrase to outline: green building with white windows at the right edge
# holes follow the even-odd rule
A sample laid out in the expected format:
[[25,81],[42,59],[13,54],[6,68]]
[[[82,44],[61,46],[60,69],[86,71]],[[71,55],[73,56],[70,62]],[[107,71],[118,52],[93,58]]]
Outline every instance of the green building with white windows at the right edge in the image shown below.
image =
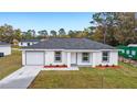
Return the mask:
[[118,46],[118,55],[125,58],[137,60],[137,44],[129,44],[128,46]]

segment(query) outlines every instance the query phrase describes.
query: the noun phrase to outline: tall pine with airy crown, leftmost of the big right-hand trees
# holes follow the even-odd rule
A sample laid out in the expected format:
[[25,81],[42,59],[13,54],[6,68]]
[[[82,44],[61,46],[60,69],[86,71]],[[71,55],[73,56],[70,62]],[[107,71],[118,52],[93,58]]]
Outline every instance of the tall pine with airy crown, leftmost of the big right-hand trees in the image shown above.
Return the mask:
[[[114,27],[117,24],[116,13],[115,12],[101,12],[93,15],[92,24],[95,24],[97,27],[102,26],[103,32],[103,42],[109,44],[109,36],[112,41],[116,41],[114,36]],[[101,30],[101,29],[99,29]],[[109,34],[108,34],[109,32]]]

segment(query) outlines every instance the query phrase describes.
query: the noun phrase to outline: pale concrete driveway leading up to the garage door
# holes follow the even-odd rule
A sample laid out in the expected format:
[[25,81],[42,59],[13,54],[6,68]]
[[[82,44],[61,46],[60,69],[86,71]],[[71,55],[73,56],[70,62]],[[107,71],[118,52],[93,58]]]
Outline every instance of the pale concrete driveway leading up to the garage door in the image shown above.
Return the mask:
[[25,66],[0,80],[0,89],[27,89],[41,71],[41,66]]

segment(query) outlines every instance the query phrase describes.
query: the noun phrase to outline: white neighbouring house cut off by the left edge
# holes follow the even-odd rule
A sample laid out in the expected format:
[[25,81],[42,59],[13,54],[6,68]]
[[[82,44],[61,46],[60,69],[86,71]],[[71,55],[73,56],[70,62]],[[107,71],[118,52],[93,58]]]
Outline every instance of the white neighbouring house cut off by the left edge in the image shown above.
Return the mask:
[[11,45],[4,42],[0,42],[0,57],[11,54]]

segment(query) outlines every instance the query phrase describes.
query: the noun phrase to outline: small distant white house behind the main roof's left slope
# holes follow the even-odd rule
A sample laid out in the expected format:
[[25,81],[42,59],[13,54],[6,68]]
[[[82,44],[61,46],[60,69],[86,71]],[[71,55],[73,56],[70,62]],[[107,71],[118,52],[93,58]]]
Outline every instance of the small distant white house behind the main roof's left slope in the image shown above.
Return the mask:
[[39,42],[40,42],[40,39],[21,39],[21,42],[19,43],[19,46],[31,46]]

